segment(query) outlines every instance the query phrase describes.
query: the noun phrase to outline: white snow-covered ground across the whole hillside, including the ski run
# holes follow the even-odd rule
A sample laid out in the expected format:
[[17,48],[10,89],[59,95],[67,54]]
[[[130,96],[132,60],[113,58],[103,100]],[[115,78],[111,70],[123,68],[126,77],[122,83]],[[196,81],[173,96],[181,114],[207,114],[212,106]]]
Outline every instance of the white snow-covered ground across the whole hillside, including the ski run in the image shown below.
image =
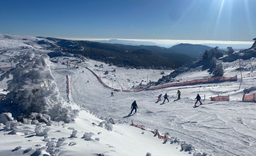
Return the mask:
[[[21,40],[18,41],[21,42]],[[10,51],[22,53],[17,47],[10,47],[8,46],[9,43],[8,45],[6,44],[5,40],[0,40],[0,51],[3,51],[3,47],[7,47]],[[1,67],[8,66],[4,60],[11,55],[9,53],[5,53],[4,57],[1,55]],[[59,62],[66,60],[64,58],[58,58]],[[54,59],[56,60],[57,58]],[[94,67],[95,64],[103,64],[104,68]],[[224,76],[238,75],[239,78],[238,60],[222,64]],[[49,138],[54,137],[55,139],[53,140],[57,141],[57,138],[69,137],[72,131],[67,129],[68,127],[74,127],[75,130],[78,130],[78,138],[68,138],[65,141],[68,144],[70,142],[76,142],[77,144],[74,146],[69,146],[68,144],[61,146],[62,152],[60,155],[83,155],[84,153],[86,155],[99,155],[104,152],[105,155],[111,156],[146,155],[146,152],[152,153],[152,156],[188,155],[188,152],[179,152],[181,146],[177,143],[170,144],[168,142],[163,144],[164,141],[154,137],[150,131],[145,131],[144,134],[141,134],[143,130],[127,125],[133,120],[133,123],[144,125],[148,130],[158,129],[162,134],[168,132],[170,137],[191,143],[194,148],[192,150],[193,155],[197,155],[195,151],[201,151],[212,156],[253,156],[256,153],[256,105],[253,102],[242,102],[241,99],[243,97],[243,89],[255,85],[255,64],[255,58],[241,60],[243,81],[240,90],[241,79],[239,78],[237,82],[170,87],[136,93],[114,92],[114,96],[111,97],[110,93],[113,90],[100,84],[88,69],[81,67],[78,69],[67,68],[66,65],[61,63],[52,63],[51,72],[55,77],[61,96],[65,100],[67,100],[65,76],[69,75],[71,105],[78,108],[82,107],[93,112],[98,117],[113,118],[118,121],[118,124],[113,125],[113,131],[107,131],[102,127],[92,125],[92,122],[98,125],[101,119],[81,111],[75,123],[65,124],[65,127],[50,126]],[[80,65],[88,67],[97,75],[100,75],[104,83],[110,87],[112,87],[113,80],[113,88],[116,89],[120,89],[120,85],[124,89],[138,85],[141,80],[146,81],[147,75],[149,76],[148,81],[157,81],[162,76],[159,70],[117,68],[93,60],[87,60]],[[114,68],[116,68],[116,72],[111,72]],[[99,70],[99,73],[96,69]],[[106,70],[110,71],[110,74],[104,75]],[[165,74],[169,73],[170,71],[165,71]],[[175,79],[182,82],[204,77],[210,77],[210,75],[206,71],[191,69],[178,75]],[[120,85],[114,80],[118,81]],[[0,83],[0,88],[6,88],[5,81]],[[177,98],[175,96],[178,89],[181,91],[181,100],[174,101]],[[160,101],[157,103],[157,96],[165,93],[169,95],[169,102],[162,103]],[[198,93],[202,98],[205,95],[206,100],[203,101],[204,105],[193,108],[194,98]],[[251,90],[251,93],[255,93],[255,90]],[[230,101],[209,101],[209,97],[217,96],[218,94],[229,94]],[[127,116],[131,111],[131,104],[134,100],[136,100],[139,107],[137,114]],[[27,130],[32,129],[31,133],[33,133],[35,125],[20,125],[20,127]],[[99,131],[102,134],[98,135]],[[93,132],[95,134],[92,137],[93,140],[86,141],[81,139],[84,132]],[[32,145],[41,144],[41,147],[43,147],[46,144],[46,142],[42,141],[43,138],[38,136],[25,138],[26,136],[23,134],[4,134],[8,134],[8,132],[1,128],[0,135],[4,139],[0,141],[0,155],[32,155],[36,148],[40,148]],[[95,141],[94,137],[100,138],[100,141]],[[28,140],[32,141],[29,142]],[[14,150],[17,146],[24,147]],[[27,148],[32,148],[32,150],[24,152]],[[43,154],[49,153],[41,153],[41,155]]]

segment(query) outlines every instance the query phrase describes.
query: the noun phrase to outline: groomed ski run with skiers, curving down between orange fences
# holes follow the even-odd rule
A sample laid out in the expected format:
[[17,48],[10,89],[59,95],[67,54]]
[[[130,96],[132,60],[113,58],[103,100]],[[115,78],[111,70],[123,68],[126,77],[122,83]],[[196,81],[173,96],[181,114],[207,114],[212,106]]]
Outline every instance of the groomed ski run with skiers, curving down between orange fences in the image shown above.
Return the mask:
[[[165,90],[114,92],[114,96],[110,97],[111,89],[101,85],[90,71],[82,69],[84,73],[75,69],[74,74],[70,75],[72,99],[99,117],[128,122],[133,120],[135,124],[149,129],[157,128],[161,133],[167,131],[170,136],[189,142],[212,156],[249,156],[256,153],[256,138],[253,137],[256,132],[253,132],[254,127],[246,125],[256,119],[253,113],[255,107],[239,101],[205,101],[203,107],[201,105],[194,109],[194,100],[181,98],[174,103],[172,97],[169,98],[170,102],[163,105],[155,103],[158,94]],[[89,83],[86,83],[87,80]],[[125,117],[131,111],[134,100],[139,107],[137,114]],[[246,114],[245,110],[249,110],[252,115]],[[238,131],[236,127],[243,129]],[[244,130],[252,132],[246,134]]]

